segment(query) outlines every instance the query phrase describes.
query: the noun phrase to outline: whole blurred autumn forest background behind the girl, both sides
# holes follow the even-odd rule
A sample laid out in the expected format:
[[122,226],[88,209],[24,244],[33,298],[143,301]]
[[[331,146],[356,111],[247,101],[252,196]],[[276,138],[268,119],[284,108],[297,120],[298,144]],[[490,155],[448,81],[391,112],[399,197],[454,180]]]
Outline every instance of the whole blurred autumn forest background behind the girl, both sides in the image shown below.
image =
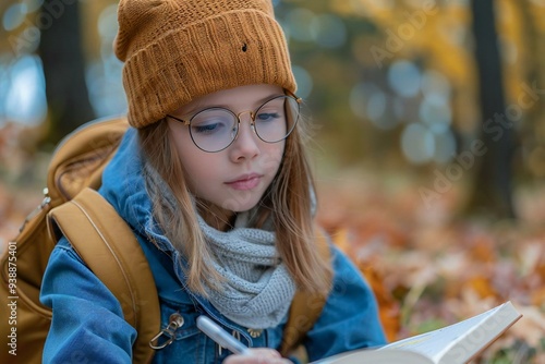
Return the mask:
[[[513,300],[529,319],[491,356],[545,360],[545,0],[274,4],[313,125],[318,217],[389,337]],[[59,139],[126,105],[117,1],[2,0],[0,16],[4,236]]]

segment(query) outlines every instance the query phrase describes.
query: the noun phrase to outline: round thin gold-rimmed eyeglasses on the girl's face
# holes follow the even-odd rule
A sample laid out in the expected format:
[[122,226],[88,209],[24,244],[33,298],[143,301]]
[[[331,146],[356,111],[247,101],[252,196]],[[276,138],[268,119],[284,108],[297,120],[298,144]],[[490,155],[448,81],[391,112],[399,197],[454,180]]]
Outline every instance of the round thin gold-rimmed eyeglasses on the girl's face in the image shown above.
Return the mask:
[[168,114],[190,126],[190,135],[195,145],[208,153],[229,147],[239,135],[241,116],[250,113],[251,126],[265,143],[278,143],[287,138],[299,121],[302,99],[294,95],[281,95],[267,100],[255,111],[238,114],[229,109],[213,107],[198,111],[189,120]]

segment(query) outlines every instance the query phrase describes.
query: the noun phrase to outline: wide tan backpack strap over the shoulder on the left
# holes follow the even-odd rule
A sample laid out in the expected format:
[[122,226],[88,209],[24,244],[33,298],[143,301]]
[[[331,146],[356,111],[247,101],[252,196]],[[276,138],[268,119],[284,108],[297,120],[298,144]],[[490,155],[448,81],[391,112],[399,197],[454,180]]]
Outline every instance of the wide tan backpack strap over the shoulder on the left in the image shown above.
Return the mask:
[[137,331],[133,362],[150,362],[148,342],[160,330],[154,277],[134,232],[92,189],[48,215],[50,233],[64,235],[89,269],[116,295],[124,319]]

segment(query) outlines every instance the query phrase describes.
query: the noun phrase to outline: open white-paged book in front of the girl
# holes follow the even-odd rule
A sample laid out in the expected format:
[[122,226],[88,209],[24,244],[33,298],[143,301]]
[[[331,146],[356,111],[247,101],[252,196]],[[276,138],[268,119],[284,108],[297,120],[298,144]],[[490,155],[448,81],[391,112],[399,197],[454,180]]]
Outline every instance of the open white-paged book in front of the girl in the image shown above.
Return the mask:
[[522,315],[511,302],[445,328],[392,342],[378,349],[362,349],[311,364],[462,364],[493,343]]

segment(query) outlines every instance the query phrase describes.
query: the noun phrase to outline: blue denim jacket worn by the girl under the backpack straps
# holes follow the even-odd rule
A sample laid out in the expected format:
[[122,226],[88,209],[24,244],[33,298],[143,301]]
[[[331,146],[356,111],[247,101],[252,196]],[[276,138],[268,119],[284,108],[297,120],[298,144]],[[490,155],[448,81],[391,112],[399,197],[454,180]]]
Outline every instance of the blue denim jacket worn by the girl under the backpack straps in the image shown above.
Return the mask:
[[[134,129],[128,131],[106,168],[99,192],[131,226],[149,260],[159,294],[161,327],[168,326],[173,313],[184,319],[173,342],[156,352],[154,363],[220,363],[230,354],[197,329],[195,320],[202,314],[214,318],[247,347],[280,347],[287,317],[277,327],[252,336],[185,287],[182,269],[185,260],[150,213]],[[332,245],[331,253],[334,288],[320,317],[303,341],[311,361],[386,342],[370,287],[354,265]],[[44,363],[131,363],[136,331],[123,319],[119,301],[65,239],[59,241],[50,256],[40,300],[53,310]]]

